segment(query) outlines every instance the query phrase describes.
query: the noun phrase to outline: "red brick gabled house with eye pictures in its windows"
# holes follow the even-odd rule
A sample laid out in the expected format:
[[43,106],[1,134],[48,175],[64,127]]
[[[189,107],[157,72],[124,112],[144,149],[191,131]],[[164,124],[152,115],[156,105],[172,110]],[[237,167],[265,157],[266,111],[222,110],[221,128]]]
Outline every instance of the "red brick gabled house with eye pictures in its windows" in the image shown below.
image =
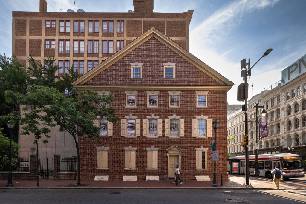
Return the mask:
[[217,120],[217,178],[226,173],[226,93],[233,83],[151,28],[73,83],[114,95],[120,121],[97,118],[100,144],[79,137],[81,179],[109,175],[122,180],[148,175],[174,177],[174,165],[188,179],[213,178],[210,143]]

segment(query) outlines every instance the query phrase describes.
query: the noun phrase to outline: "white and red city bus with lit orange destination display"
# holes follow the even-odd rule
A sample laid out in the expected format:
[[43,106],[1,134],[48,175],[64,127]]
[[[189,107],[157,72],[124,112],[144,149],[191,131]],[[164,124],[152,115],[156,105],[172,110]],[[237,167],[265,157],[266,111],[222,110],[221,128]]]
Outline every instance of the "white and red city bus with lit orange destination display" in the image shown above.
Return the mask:
[[[291,153],[259,154],[258,172],[259,176],[269,179],[273,178],[272,170],[278,166],[285,178],[304,177],[304,168],[299,155]],[[227,159],[227,171],[230,174],[245,174],[245,156],[229,157]],[[254,175],[255,155],[249,156],[249,174]]]

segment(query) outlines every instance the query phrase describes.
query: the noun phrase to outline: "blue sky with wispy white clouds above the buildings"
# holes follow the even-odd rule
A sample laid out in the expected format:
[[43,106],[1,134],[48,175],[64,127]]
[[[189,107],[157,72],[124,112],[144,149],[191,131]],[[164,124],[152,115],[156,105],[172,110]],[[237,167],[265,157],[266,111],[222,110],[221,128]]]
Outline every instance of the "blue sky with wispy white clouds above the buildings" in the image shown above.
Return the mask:
[[[74,0],[47,0],[47,11],[73,8]],[[11,56],[12,11],[39,11],[39,0],[0,0],[0,53]],[[132,0],[76,0],[85,12],[127,12]],[[243,82],[240,61],[253,65],[268,49],[273,51],[252,69],[249,98],[281,79],[281,71],[306,54],[306,0],[155,0],[154,12],[194,10],[189,52],[235,85],[227,94],[237,102]]]

